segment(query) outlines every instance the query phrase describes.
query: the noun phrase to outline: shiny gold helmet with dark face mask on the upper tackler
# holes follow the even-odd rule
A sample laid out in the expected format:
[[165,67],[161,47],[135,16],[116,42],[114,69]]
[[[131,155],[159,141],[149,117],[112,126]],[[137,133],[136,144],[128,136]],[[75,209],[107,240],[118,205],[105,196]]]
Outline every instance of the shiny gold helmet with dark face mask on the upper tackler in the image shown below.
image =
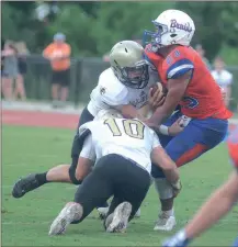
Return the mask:
[[137,42],[122,41],[110,53],[110,64],[114,75],[126,87],[141,89],[149,81],[148,64],[144,48]]

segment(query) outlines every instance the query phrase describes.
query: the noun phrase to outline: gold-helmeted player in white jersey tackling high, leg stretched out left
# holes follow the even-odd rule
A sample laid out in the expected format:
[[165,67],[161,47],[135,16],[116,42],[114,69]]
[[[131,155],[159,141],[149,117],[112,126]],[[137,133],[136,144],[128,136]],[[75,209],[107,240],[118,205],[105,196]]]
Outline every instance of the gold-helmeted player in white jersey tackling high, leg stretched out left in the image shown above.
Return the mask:
[[[127,117],[144,119],[139,109],[148,101],[150,102],[148,96],[150,87],[158,81],[158,74],[150,72],[148,63],[144,59],[144,48],[133,41],[120,42],[113,46],[110,53],[110,63],[111,67],[100,75],[98,86],[91,93],[89,104],[82,111],[78,126],[92,121],[100,110],[110,108],[120,110]],[[152,104],[159,105],[162,101],[162,94],[157,90],[152,97]],[[169,132],[174,134],[180,128],[180,126],[173,125]],[[13,197],[21,198],[29,191],[48,182],[80,184],[84,171],[80,166],[77,172],[79,145],[77,131],[71,150],[71,166],[59,165],[46,172],[33,173],[20,179],[14,184]],[[102,207],[100,212],[107,209],[106,204],[99,206]]]

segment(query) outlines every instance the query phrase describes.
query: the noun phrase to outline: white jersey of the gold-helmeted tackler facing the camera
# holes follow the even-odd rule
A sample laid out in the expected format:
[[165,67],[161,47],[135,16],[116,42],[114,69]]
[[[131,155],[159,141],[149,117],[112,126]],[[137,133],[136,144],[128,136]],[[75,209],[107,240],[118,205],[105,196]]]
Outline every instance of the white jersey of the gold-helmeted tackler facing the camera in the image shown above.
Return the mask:
[[152,71],[149,74],[149,82],[145,88],[133,89],[123,85],[111,68],[105,69],[99,77],[98,86],[90,94],[89,112],[95,116],[100,110],[125,104],[140,109],[148,101],[151,86],[159,81],[158,74]]

